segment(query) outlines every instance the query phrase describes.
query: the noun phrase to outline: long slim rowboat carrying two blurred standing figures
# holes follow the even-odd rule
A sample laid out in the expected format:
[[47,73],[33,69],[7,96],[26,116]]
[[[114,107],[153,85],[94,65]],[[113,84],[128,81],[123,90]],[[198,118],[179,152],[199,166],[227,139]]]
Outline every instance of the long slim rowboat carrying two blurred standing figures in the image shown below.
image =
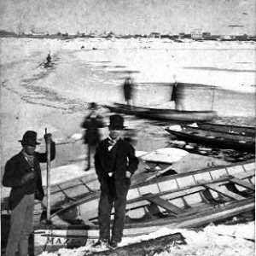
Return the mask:
[[125,104],[113,103],[113,106],[105,105],[111,112],[126,113],[137,117],[160,120],[180,121],[209,121],[217,116],[215,111],[188,111],[166,108],[143,108]]

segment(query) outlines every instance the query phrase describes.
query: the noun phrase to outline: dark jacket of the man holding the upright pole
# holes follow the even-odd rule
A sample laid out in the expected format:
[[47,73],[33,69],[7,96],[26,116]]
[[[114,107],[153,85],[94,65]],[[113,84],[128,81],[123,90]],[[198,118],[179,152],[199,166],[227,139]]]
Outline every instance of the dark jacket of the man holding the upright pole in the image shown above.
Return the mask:
[[[51,143],[50,160],[55,159],[55,143]],[[37,172],[37,191],[35,198],[42,201],[44,198],[44,189],[42,186],[41,168],[39,163],[47,162],[46,153],[35,152],[34,170]],[[5,165],[3,175],[3,186],[12,188],[9,195],[9,209],[13,210],[22,200],[26,191],[26,183],[22,183],[22,177],[28,172],[32,172],[32,167],[29,166],[24,155],[20,151],[15,154]]]

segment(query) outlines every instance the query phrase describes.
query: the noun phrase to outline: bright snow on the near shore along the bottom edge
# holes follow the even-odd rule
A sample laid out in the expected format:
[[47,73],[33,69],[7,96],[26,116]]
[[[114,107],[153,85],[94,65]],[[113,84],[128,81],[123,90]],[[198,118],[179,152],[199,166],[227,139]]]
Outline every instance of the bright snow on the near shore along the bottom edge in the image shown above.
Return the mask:
[[[149,235],[126,239],[119,243],[119,247],[180,232],[185,237],[186,245],[173,246],[168,251],[154,253],[154,256],[253,256],[255,255],[253,227],[254,222],[234,225],[208,225],[200,231],[161,228]],[[63,248],[55,253],[44,252],[40,255],[82,256],[84,252],[99,251],[99,249],[95,249],[91,245],[77,249]]]

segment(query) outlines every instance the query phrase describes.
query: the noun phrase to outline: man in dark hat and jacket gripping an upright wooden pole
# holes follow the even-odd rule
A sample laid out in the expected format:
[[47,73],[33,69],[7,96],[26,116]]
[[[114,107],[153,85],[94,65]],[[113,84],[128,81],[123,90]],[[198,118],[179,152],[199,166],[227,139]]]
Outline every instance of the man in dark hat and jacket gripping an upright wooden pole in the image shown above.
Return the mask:
[[[51,135],[44,135],[45,143],[50,143],[50,160],[55,159],[55,143]],[[39,162],[47,162],[46,153],[35,151],[37,133],[26,131],[19,141],[22,150],[7,161],[3,175],[3,186],[10,187],[9,210],[11,210],[9,239],[6,256],[28,255],[28,238],[32,232],[34,199],[42,201],[44,189]]]

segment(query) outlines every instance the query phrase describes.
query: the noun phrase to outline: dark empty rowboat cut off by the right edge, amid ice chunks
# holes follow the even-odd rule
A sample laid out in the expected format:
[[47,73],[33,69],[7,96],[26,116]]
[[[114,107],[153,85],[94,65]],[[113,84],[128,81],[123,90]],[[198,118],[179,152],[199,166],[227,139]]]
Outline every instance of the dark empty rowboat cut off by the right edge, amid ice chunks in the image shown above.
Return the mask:
[[250,135],[212,131],[189,125],[183,126],[181,131],[166,127],[166,131],[187,142],[206,144],[214,148],[255,151],[255,138]]

